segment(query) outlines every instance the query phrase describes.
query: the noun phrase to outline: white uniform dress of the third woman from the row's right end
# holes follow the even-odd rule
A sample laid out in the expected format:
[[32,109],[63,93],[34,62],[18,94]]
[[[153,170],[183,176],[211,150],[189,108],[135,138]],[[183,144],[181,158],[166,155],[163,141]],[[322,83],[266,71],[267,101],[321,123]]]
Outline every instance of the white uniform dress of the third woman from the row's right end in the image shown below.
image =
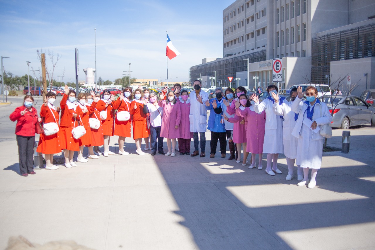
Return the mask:
[[261,103],[255,102],[254,111],[261,113],[263,110],[266,111],[263,153],[283,154],[282,119],[280,116],[273,113],[273,102],[269,99],[265,99]]

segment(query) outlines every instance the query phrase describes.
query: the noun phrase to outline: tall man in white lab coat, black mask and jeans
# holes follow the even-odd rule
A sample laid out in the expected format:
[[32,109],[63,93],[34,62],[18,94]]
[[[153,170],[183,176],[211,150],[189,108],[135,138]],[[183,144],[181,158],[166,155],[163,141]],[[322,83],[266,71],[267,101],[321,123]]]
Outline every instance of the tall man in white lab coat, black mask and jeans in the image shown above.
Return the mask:
[[193,83],[194,90],[190,92],[190,132],[193,132],[194,139],[194,152],[191,156],[199,155],[199,133],[201,138],[201,157],[205,157],[207,111],[204,103],[208,100],[208,93],[202,91],[201,86],[201,81],[195,80]]

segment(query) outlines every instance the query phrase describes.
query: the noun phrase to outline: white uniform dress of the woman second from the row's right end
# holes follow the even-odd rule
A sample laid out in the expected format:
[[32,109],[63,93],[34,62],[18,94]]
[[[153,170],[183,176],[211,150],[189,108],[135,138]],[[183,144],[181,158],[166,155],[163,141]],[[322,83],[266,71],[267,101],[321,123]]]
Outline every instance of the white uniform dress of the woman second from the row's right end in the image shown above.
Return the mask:
[[294,120],[294,113],[291,110],[292,101],[284,101],[283,104],[278,103],[273,104],[273,112],[279,116],[284,116],[284,121],[282,123],[283,134],[282,141],[284,145],[284,155],[290,159],[296,159],[297,155],[297,138],[292,136],[292,131],[296,125],[296,120]]

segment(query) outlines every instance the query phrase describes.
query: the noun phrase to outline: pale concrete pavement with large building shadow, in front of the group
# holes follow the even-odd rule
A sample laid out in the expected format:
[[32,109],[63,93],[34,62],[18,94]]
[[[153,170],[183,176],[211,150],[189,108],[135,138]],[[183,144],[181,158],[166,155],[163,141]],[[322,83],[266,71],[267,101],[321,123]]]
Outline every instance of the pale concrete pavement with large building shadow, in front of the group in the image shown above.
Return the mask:
[[[285,180],[284,155],[283,173],[269,176],[228,161],[229,151],[213,159],[135,155],[132,139],[128,156],[22,177],[9,120],[21,102],[12,102],[0,107],[1,249],[17,235],[98,250],[375,248],[375,128],[351,129],[349,154],[324,153],[313,189]],[[341,134],[333,130],[328,145],[341,148]],[[116,136],[111,151],[118,152]]]

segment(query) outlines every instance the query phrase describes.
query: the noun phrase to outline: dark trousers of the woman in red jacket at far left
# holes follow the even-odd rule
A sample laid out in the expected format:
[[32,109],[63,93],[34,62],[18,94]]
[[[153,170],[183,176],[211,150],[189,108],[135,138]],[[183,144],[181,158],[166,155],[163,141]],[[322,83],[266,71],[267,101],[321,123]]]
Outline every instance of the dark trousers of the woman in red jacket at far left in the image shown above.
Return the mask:
[[18,162],[21,175],[33,172],[33,155],[35,136],[16,136],[18,145]]

